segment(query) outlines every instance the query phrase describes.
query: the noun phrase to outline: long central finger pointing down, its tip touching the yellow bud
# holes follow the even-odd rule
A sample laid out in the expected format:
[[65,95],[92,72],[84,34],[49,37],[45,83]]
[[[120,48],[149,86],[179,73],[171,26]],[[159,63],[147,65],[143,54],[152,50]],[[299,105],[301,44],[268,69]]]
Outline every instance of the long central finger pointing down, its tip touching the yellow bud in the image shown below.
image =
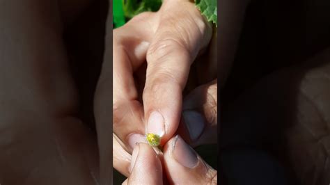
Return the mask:
[[190,1],[164,1],[159,11],[147,53],[143,105],[148,133],[162,136],[164,144],[178,128],[190,65],[210,41],[212,30]]

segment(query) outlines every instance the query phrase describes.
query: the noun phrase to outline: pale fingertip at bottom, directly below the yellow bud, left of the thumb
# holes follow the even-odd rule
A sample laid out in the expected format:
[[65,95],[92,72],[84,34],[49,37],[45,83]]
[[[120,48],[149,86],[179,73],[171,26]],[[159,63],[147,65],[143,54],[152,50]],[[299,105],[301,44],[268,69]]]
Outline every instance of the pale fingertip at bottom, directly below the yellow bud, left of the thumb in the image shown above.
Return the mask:
[[123,184],[163,184],[162,163],[148,144],[134,147],[131,175]]

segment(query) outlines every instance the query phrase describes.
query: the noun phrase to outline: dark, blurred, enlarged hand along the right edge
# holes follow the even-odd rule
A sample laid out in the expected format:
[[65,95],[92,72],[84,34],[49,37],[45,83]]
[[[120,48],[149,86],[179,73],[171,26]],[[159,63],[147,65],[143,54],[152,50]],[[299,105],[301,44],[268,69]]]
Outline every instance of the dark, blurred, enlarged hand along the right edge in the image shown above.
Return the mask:
[[288,184],[329,184],[329,54],[325,49],[247,90],[223,113],[221,144],[266,150],[285,167]]

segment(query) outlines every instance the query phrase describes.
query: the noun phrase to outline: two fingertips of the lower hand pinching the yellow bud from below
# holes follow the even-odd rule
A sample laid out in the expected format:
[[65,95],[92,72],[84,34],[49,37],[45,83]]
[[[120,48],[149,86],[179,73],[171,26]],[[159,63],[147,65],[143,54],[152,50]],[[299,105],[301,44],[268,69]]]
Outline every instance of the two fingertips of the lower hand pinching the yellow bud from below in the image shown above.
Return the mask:
[[[164,168],[162,168],[162,161]],[[123,184],[217,184],[214,170],[180,136],[168,140],[164,154],[156,154],[148,144],[134,147],[131,174]]]

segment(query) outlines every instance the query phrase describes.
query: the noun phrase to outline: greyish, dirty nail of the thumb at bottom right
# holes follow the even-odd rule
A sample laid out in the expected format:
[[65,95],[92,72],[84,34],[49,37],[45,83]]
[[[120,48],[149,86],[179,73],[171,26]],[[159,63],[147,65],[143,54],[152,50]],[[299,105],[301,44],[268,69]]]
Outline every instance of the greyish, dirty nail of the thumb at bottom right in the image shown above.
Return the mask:
[[178,163],[187,168],[194,168],[198,158],[196,152],[180,136],[175,136],[172,145],[173,157]]

